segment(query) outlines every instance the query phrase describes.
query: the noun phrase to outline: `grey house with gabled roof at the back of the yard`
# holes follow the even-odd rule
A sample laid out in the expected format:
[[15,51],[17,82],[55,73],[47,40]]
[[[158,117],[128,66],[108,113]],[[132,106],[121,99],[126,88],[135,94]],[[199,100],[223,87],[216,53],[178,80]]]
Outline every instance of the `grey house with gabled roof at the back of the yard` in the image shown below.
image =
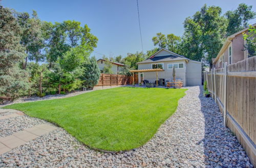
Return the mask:
[[[182,80],[183,86],[202,85],[202,63],[192,61],[182,55],[160,49],[145,61],[138,62],[138,70],[161,68],[158,72],[159,85],[165,85],[167,81],[173,81],[173,67],[176,71],[176,80]],[[156,72],[139,73],[143,80],[156,81]],[[139,77],[140,80],[140,77]]]

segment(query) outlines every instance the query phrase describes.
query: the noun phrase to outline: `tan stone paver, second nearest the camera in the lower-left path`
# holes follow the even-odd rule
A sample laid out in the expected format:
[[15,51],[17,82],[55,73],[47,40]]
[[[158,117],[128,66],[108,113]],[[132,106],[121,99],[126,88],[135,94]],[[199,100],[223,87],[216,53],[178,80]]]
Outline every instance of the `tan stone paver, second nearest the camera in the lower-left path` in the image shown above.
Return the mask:
[[10,135],[10,136],[0,138],[0,143],[4,144],[8,148],[13,149],[20,145],[25,144],[26,142],[14,135]]

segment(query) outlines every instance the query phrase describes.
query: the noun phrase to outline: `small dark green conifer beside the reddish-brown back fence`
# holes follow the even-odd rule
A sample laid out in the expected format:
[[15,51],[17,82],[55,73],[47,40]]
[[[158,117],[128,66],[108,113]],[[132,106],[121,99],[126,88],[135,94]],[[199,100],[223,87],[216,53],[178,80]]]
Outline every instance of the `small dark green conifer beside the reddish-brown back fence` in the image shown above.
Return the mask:
[[95,57],[92,57],[89,62],[83,64],[83,75],[81,80],[83,80],[83,86],[86,88],[93,88],[98,84],[100,70]]

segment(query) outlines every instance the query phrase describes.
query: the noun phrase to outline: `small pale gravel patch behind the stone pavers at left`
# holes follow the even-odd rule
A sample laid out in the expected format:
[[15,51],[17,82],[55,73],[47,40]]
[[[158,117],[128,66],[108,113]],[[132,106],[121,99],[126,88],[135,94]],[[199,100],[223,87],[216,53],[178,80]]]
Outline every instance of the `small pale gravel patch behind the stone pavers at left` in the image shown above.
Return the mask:
[[26,115],[0,120],[0,137],[12,135],[17,131],[30,128],[38,124],[48,123],[44,120],[32,118]]

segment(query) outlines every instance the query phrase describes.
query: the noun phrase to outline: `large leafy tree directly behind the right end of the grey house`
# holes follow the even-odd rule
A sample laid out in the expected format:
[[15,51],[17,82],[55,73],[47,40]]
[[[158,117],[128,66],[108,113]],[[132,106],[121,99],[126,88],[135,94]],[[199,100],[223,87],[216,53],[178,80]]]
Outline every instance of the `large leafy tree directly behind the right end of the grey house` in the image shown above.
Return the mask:
[[211,66],[211,59],[216,57],[224,41],[226,23],[220,7],[204,5],[184,21],[182,54]]

